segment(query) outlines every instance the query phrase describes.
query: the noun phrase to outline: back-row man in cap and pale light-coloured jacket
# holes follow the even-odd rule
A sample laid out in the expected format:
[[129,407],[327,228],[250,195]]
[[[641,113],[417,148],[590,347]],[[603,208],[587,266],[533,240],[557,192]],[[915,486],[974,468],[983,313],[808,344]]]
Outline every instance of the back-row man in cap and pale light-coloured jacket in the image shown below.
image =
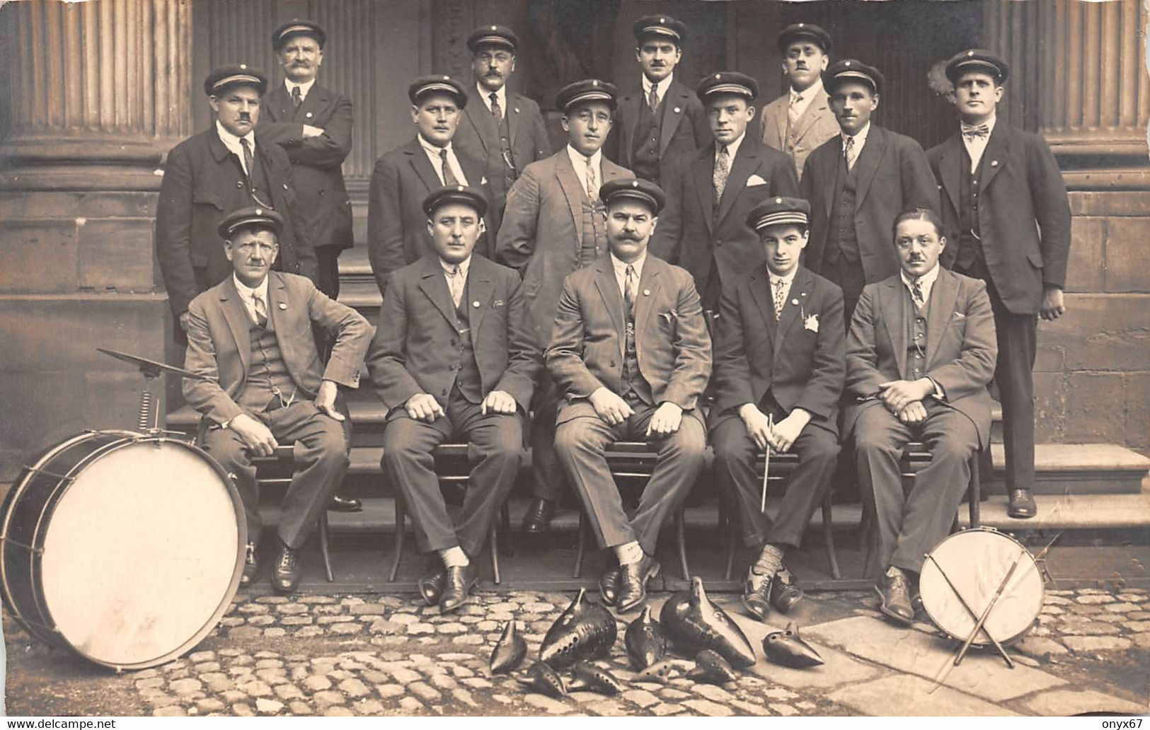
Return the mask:
[[779,33],[779,53],[789,90],[762,107],[762,141],[790,155],[802,176],[811,151],[838,135],[822,85],[830,34],[813,23],[793,23]]

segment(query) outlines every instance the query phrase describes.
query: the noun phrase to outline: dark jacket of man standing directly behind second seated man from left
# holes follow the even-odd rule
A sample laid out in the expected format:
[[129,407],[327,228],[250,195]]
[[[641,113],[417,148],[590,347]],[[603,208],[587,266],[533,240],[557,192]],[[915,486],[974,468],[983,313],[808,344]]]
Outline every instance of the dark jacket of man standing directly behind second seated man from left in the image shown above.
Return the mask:
[[[483,162],[458,148],[455,157],[468,185],[486,190],[490,203]],[[375,161],[367,201],[367,253],[381,292],[385,293],[389,274],[432,251],[423,199],[442,185],[417,138]],[[486,223],[483,239],[486,243],[483,247],[476,245],[481,255],[490,255],[490,241],[494,238],[490,210]]]

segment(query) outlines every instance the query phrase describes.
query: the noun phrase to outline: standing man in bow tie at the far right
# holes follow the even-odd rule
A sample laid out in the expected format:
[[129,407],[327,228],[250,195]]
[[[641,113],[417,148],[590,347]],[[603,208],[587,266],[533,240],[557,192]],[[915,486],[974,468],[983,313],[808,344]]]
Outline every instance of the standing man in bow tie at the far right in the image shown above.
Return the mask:
[[943,191],[943,231],[951,241],[943,266],[986,282],[995,312],[1007,510],[1033,517],[1035,315],[1052,321],[1066,310],[1071,209],[1045,140],[996,122],[1009,72],[987,51],[964,51],[946,63],[960,131],[927,157]]

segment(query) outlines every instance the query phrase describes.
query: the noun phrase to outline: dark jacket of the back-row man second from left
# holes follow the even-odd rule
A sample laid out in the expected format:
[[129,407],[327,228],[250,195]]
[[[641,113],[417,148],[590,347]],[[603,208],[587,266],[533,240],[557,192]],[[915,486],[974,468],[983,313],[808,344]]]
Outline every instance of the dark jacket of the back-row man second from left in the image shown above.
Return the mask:
[[[547,128],[543,123],[539,105],[523,94],[507,90],[507,131],[511,132],[512,161],[515,174],[522,175],[527,166],[551,154],[551,140]],[[471,84],[467,90],[467,106],[463,107],[463,118],[452,143],[476,160],[484,160],[488,183],[491,185],[491,198],[498,212],[507,200],[507,187],[504,185],[504,161],[499,148],[499,125],[488,110],[488,106],[478,98],[478,90]],[[490,233],[494,240],[498,226]]]

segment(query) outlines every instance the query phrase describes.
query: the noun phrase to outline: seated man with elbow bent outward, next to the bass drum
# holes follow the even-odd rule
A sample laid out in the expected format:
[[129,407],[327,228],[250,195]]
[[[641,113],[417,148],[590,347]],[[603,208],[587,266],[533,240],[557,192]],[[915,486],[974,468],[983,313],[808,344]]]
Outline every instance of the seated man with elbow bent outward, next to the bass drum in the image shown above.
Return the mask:
[[[373,328],[310,279],[269,274],[283,224],[275,210],[261,208],[236,210],[220,223],[232,276],[189,305],[184,360],[184,368],[213,379],[186,378],[184,399],[207,421],[204,448],[236,475],[247,516],[244,584],[258,570],[262,528],[252,456],[270,456],[281,443],[297,443],[297,469],[284,495],[271,571],[273,586],[290,593],[300,578],[297,551],[347,470],[345,416],[336,397],[340,385],[359,386]],[[313,325],[335,343],[327,367]]]

